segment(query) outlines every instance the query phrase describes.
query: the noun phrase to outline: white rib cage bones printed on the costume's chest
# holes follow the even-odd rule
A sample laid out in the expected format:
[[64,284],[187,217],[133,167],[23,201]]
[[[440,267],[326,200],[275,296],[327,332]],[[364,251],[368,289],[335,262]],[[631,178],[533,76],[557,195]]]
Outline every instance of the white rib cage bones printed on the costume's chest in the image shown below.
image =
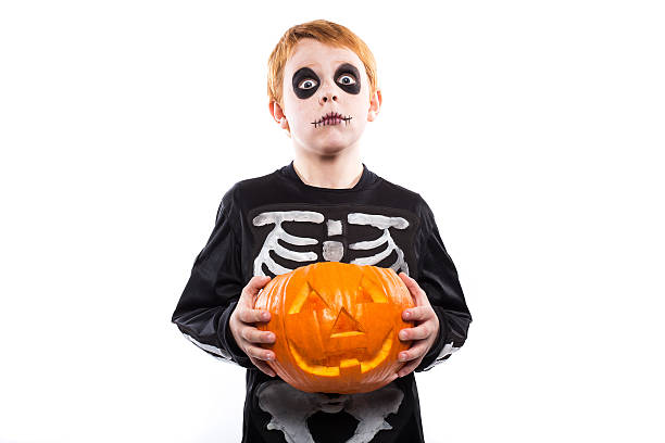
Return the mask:
[[[283,258],[293,262],[317,262],[318,254],[315,252],[291,251],[279,244],[277,240],[294,245],[318,244],[317,239],[290,235],[281,227],[281,223],[299,221],[323,224],[325,220],[326,217],[324,214],[315,211],[271,211],[255,216],[252,219],[252,224],[254,226],[274,224],[275,227],[265,238],[261,251],[256,255],[256,258],[254,258],[254,276],[266,275],[263,271],[263,264],[265,264],[271,273],[275,274],[276,276],[293,270],[275,262],[269,254],[271,251],[274,251],[275,254]],[[378,214],[350,213],[348,214],[348,223],[351,225],[373,226],[384,231],[382,236],[378,237],[377,239],[352,243],[349,245],[349,249],[363,251],[378,248],[381,244],[388,243],[388,248],[385,251],[366,257],[354,258],[350,263],[356,265],[376,265],[390,255],[392,251],[394,251],[397,253],[397,260],[392,265],[390,265],[390,268],[398,274],[400,270],[403,270],[406,275],[409,275],[409,265],[404,260],[404,251],[399,248],[390,236],[390,228],[406,229],[409,227],[409,221],[405,218],[389,217]],[[328,219],[326,223],[326,233],[328,237],[339,236],[342,233],[341,220]],[[323,258],[326,262],[340,262],[344,256],[343,243],[332,240],[324,241],[323,239],[322,242]]]

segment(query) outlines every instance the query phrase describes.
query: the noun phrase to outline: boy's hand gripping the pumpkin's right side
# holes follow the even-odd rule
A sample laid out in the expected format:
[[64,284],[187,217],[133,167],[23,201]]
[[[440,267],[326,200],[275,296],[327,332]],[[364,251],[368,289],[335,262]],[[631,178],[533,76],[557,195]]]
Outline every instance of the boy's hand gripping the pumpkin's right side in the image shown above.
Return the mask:
[[[400,353],[400,362],[406,362],[398,372],[399,377],[404,377],[418,367],[425,355],[437,340],[439,334],[439,317],[429,304],[429,299],[418,283],[404,273],[399,274],[402,281],[409,288],[409,292],[415,300],[415,307],[404,309],[402,318],[407,321],[415,321],[414,328],[406,328],[400,331],[400,340],[413,340],[409,351]],[[405,356],[402,359],[402,355]]]

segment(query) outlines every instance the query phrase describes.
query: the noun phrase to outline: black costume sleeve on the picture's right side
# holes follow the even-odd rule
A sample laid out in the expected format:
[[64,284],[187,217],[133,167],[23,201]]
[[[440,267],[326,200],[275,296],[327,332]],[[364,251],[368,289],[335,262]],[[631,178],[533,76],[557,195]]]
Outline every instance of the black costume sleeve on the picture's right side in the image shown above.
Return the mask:
[[446,251],[434,214],[424,200],[419,233],[421,254],[416,281],[439,317],[439,334],[415,369],[416,372],[431,369],[462,347],[472,322],[457,270]]

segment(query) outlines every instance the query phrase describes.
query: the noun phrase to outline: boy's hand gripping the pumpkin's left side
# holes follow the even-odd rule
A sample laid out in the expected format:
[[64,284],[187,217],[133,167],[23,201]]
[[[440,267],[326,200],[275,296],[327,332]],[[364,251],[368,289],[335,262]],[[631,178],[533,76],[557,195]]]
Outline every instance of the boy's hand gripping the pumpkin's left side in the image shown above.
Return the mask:
[[[238,346],[244,352],[250,360],[261,371],[269,377],[275,377],[275,371],[265,363],[267,359],[274,359],[273,351],[264,350],[254,343],[274,343],[275,334],[268,331],[260,331],[254,327],[254,322],[267,322],[271,319],[271,313],[267,311],[254,309],[254,300],[261,288],[271,281],[268,276],[254,276],[247,283],[240,293],[238,304],[234,309],[228,325]],[[262,314],[267,314],[263,317]]]

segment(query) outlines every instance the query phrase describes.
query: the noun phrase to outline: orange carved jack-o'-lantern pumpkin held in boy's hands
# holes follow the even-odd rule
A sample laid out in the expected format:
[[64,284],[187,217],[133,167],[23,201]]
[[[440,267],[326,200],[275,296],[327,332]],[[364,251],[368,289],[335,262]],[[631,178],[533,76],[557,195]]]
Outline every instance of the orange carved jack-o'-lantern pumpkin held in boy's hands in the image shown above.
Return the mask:
[[404,366],[398,354],[411,342],[402,312],[413,307],[402,279],[390,268],[319,262],[273,278],[254,307],[271,312],[260,322],[273,331],[276,360],[266,362],[287,383],[305,392],[359,393],[388,384]]

